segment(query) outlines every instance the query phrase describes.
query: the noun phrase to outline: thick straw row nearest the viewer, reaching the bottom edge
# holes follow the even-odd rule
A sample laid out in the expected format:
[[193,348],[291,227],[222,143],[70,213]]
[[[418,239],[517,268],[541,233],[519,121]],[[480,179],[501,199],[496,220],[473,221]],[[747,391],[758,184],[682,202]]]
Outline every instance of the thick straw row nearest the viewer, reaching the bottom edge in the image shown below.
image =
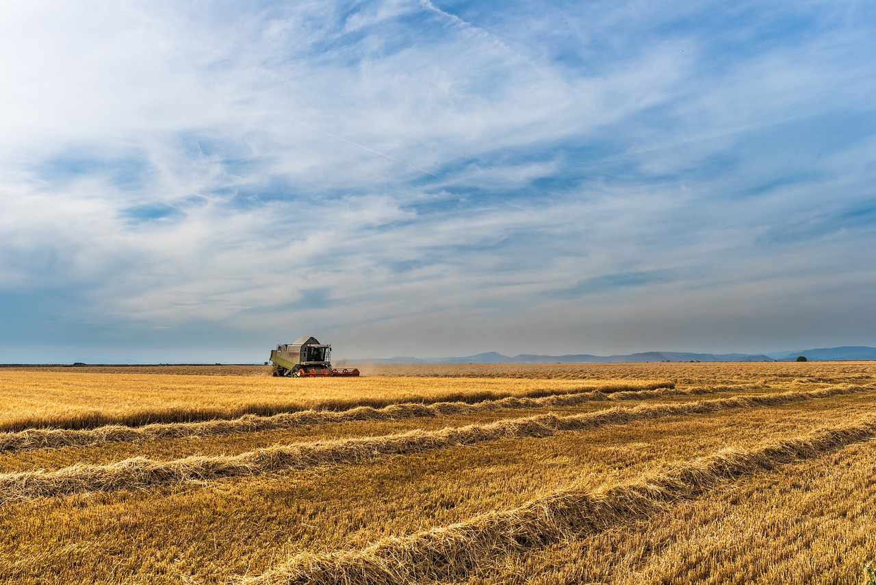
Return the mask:
[[710,457],[607,489],[563,489],[519,508],[488,512],[458,524],[378,540],[364,549],[300,553],[244,585],[451,581],[509,553],[524,553],[605,531],[660,513],[668,504],[703,495],[723,482],[773,471],[795,461],[876,437],[876,417],[781,439],[751,450]]

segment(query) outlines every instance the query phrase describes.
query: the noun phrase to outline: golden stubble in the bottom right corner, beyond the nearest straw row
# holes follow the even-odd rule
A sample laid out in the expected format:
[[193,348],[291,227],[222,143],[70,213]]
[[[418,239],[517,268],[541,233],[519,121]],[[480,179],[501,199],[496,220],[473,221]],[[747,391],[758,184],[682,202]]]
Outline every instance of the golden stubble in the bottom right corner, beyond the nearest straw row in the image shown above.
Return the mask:
[[874,454],[870,440],[753,475],[636,522],[492,559],[493,570],[477,567],[465,583],[858,585],[876,558]]

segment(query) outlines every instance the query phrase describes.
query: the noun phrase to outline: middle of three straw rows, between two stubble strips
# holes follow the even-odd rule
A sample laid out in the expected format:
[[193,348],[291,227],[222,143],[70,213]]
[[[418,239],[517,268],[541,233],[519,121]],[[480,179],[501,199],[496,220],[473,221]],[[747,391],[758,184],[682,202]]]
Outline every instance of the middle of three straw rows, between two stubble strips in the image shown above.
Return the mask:
[[40,496],[63,496],[88,491],[144,489],[183,482],[204,482],[223,477],[265,474],[329,464],[373,460],[382,455],[420,453],[450,446],[466,446],[496,439],[548,437],[556,432],[580,431],[608,424],[705,414],[719,410],[758,408],[817,398],[871,391],[867,387],[733,396],[693,403],[615,407],[569,416],[552,414],[470,424],[439,431],[421,431],[355,439],[313,441],[270,446],[237,455],[192,456],[177,460],[143,457],[109,465],[75,464],[56,471],[0,474],[0,503]]

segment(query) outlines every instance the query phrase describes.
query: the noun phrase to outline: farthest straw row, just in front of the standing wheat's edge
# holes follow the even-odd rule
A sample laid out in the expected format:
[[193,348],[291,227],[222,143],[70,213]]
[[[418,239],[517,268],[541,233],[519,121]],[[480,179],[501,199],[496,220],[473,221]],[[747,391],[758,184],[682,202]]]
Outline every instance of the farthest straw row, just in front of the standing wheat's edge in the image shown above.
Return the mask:
[[318,424],[337,424],[354,421],[386,421],[406,418],[447,417],[451,415],[497,410],[560,408],[604,401],[646,400],[666,396],[702,396],[739,388],[674,390],[666,382],[659,389],[618,391],[606,394],[603,390],[583,393],[554,394],[538,398],[505,396],[479,403],[399,403],[380,409],[359,406],[350,410],[301,410],[272,417],[245,415],[232,420],[209,420],[199,423],[158,423],[145,426],[107,425],[95,429],[27,429],[0,433],[0,452],[13,453],[28,449],[96,446],[108,443],[133,443],[149,439],[182,439],[186,437],[215,437],[244,432],[265,432],[293,429]]

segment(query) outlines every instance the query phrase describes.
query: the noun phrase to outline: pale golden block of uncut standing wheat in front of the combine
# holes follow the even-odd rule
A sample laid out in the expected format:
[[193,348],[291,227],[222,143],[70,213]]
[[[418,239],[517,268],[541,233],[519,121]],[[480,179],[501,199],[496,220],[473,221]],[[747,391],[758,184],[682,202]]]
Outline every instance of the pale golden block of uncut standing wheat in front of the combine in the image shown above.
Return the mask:
[[[671,389],[654,380],[343,378],[298,380],[252,376],[111,375],[0,371],[5,401],[0,432],[34,428],[94,429],[268,417],[301,410],[383,408],[395,403],[477,403],[506,396],[539,397]],[[21,416],[21,412],[31,413]]]

